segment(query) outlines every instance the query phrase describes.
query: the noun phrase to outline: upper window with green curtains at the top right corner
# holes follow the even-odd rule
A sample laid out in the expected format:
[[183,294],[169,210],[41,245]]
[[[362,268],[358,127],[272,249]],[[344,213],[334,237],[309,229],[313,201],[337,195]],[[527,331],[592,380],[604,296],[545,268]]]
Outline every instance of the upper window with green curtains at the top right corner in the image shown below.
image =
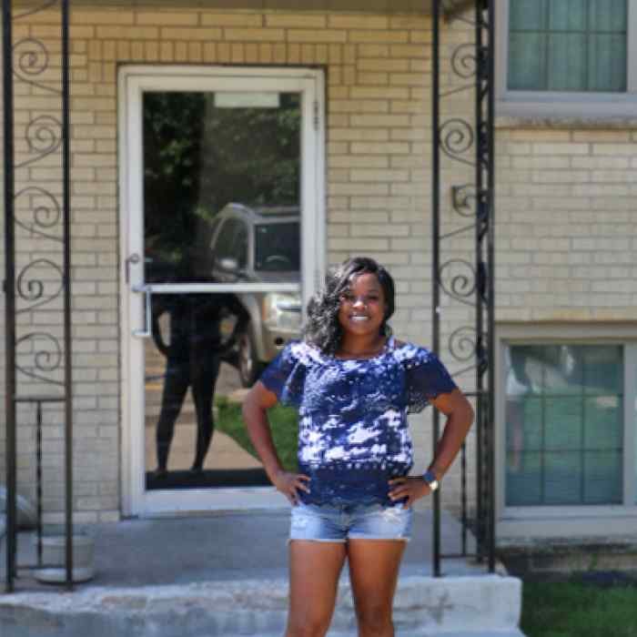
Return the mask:
[[508,0],[498,7],[501,115],[634,113],[637,0]]

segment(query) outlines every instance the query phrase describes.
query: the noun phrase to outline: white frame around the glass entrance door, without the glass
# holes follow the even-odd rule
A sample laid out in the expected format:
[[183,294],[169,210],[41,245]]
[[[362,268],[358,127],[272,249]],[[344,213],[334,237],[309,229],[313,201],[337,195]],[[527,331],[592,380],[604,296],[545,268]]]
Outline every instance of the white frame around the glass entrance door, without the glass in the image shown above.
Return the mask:
[[[324,76],[319,69],[228,66],[122,66],[118,76],[118,154],[121,325],[121,493],[125,516],[177,514],[183,511],[281,508],[288,506],[272,487],[153,490],[145,489],[144,354],[142,339],[132,336],[144,324],[144,298],[132,292],[143,284],[142,97],[147,91],[298,92],[301,94],[301,286],[307,302],[325,269],[325,108]],[[170,286],[175,291],[175,286]],[[224,286],[226,287],[226,286]],[[155,288],[155,287],[154,287]],[[182,291],[216,291],[215,284],[180,286]],[[289,288],[289,285],[282,288]],[[141,420],[140,420],[141,419]]]

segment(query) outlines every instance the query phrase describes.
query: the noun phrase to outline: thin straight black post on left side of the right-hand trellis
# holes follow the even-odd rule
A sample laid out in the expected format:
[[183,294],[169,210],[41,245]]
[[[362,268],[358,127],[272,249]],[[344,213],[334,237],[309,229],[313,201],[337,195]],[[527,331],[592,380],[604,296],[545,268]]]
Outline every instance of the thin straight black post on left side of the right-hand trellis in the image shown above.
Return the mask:
[[[433,0],[431,38],[431,329],[433,351],[440,351],[440,0]],[[440,436],[440,414],[433,411],[432,449]],[[440,490],[433,492],[433,576],[440,577]]]

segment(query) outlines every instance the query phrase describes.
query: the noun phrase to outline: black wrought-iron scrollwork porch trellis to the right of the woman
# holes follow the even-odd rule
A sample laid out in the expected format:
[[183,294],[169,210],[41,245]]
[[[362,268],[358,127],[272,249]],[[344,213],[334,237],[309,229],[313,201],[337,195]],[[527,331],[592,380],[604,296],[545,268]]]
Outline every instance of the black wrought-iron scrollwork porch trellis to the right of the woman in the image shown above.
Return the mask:
[[[495,7],[492,0],[475,0],[474,16],[458,15],[474,27],[475,42],[462,44],[450,56],[450,76],[460,86],[440,89],[440,17],[442,0],[433,0],[432,37],[432,346],[440,349],[442,299],[474,308],[474,324],[455,329],[449,337],[450,358],[461,369],[475,370],[475,390],[468,392],[476,407],[476,508],[473,531],[475,556],[488,561],[495,571],[495,482],[494,482],[494,42]],[[451,82],[453,84],[453,82]],[[473,124],[462,117],[443,118],[443,100],[462,91],[475,95]],[[460,166],[473,169],[473,179],[451,187],[451,208],[470,221],[450,232],[441,231],[441,153]],[[446,258],[445,240],[473,232],[475,258]],[[433,444],[440,437],[440,416],[433,415]],[[460,454],[461,555],[469,557],[467,449]],[[440,576],[440,491],[434,493],[433,573]]]

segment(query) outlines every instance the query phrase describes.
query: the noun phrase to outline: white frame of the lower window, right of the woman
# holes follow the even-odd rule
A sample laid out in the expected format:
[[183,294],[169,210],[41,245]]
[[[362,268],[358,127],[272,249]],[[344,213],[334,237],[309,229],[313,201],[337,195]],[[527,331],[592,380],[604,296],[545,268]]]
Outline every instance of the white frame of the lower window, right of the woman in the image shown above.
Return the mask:
[[[506,360],[509,345],[622,345],[624,435],[622,504],[506,505]],[[500,324],[496,328],[495,473],[498,538],[608,537],[637,533],[637,325]]]

